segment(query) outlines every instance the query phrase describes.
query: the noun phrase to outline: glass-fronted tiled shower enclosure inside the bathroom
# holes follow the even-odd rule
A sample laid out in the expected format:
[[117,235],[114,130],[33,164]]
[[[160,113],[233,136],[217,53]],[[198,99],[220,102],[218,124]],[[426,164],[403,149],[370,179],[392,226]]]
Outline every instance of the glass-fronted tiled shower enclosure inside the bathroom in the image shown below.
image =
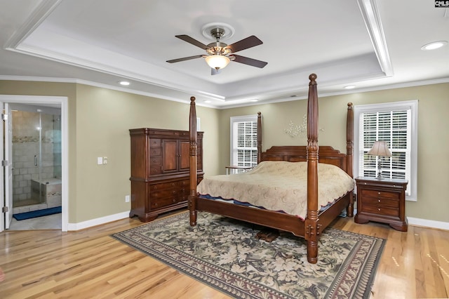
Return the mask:
[[11,105],[13,213],[61,206],[60,109]]

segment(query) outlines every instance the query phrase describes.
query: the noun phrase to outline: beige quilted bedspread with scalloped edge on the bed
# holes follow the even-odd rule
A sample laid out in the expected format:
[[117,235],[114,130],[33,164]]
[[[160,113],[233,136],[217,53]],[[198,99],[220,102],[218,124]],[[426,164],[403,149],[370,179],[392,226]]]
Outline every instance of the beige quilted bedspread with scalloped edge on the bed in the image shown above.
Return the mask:
[[[354,189],[354,180],[337,166],[319,164],[318,173],[319,208]],[[304,219],[307,215],[307,162],[262,161],[246,173],[204,178],[197,191]]]

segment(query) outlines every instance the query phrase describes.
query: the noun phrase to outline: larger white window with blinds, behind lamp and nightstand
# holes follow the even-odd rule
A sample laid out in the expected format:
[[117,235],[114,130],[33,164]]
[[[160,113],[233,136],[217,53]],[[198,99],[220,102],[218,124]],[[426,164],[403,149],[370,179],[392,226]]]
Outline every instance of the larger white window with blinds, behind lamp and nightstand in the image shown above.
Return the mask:
[[[408,180],[406,198],[417,199],[417,100],[354,107],[354,173],[375,177],[381,159],[382,177]],[[386,141],[391,157],[366,153],[376,140]]]

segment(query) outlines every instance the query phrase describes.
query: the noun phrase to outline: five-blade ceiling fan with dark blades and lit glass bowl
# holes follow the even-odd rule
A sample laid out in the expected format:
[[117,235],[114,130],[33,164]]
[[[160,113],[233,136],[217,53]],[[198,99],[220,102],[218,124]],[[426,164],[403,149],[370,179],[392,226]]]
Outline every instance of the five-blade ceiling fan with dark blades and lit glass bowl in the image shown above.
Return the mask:
[[187,43],[202,48],[206,50],[207,55],[194,55],[184,58],[177,58],[173,60],[167,60],[169,63],[180,62],[185,60],[191,60],[196,58],[205,58],[207,64],[210,66],[211,74],[218,74],[220,69],[225,68],[229,62],[235,61],[243,63],[244,65],[250,65],[253,67],[264,67],[268,62],[264,62],[261,60],[256,60],[253,58],[244,57],[241,55],[236,55],[234,53],[245,50],[247,48],[252,48],[254,46],[259,46],[262,43],[260,39],[257,39],[256,36],[248,36],[246,39],[242,39],[241,41],[236,41],[234,44],[227,45],[225,43],[220,42],[223,34],[225,34],[225,29],[220,27],[213,28],[210,30],[210,35],[213,36],[216,41],[208,44],[207,46],[196,39],[182,34],[176,35],[178,39],[182,39],[183,41],[187,41]]

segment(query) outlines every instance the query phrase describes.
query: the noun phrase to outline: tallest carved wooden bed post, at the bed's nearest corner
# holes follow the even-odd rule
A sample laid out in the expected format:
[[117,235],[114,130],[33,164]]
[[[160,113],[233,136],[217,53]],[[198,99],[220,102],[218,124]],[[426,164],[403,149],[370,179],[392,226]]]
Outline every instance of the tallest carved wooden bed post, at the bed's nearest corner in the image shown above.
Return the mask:
[[318,93],[316,74],[309,76],[309,100],[307,101],[307,218],[305,234],[307,260],[316,264],[318,257]]

